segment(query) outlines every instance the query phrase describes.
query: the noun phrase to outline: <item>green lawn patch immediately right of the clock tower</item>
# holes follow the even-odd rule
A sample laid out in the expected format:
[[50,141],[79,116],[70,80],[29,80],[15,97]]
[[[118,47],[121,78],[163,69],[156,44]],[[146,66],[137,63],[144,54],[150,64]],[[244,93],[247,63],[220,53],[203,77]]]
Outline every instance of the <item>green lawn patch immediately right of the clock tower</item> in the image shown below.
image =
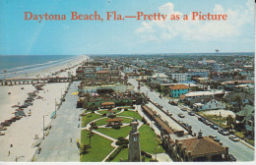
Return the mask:
[[155,134],[155,132],[151,129],[149,125],[143,125],[140,129],[140,143],[141,143],[141,150],[149,152],[151,154],[156,153],[157,149],[158,153],[165,152],[160,143],[160,138]]

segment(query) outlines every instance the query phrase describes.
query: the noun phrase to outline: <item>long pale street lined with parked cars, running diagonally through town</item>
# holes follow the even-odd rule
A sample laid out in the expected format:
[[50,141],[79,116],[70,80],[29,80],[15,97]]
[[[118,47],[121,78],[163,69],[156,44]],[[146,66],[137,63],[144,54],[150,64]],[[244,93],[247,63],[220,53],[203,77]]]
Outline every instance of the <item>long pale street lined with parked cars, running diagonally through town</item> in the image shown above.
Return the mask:
[[[128,82],[133,84],[135,86],[135,90],[137,90],[138,82],[136,80],[129,79]],[[223,136],[220,133],[218,133],[217,130],[214,130],[210,126],[207,126],[202,122],[198,121],[198,118],[196,116],[190,116],[188,115],[187,112],[181,111],[181,109],[178,106],[168,104],[168,99],[160,98],[159,93],[155,91],[150,91],[150,89],[147,86],[141,86],[140,92],[145,93],[153,102],[159,103],[163,107],[162,109],[164,111],[168,110],[170,113],[172,113],[172,116],[175,119],[188,123],[190,126],[192,126],[193,133],[198,133],[202,131],[203,136],[212,135],[220,138],[221,141],[223,142],[223,145],[228,146],[229,153],[234,155],[237,161],[254,160],[254,149],[248,147],[247,145],[243,144],[240,141],[232,141],[231,139],[228,138],[228,136]],[[157,113],[160,113],[160,110],[158,110]],[[184,114],[185,118],[179,118],[179,113]],[[165,115],[163,118],[167,118],[167,116]]]

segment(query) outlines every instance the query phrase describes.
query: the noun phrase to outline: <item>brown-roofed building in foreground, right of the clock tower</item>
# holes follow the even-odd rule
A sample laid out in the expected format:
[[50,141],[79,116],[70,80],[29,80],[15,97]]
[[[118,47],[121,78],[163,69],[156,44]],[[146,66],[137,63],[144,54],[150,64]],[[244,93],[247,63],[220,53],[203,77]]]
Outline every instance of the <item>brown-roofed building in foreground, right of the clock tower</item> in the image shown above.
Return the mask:
[[199,162],[228,159],[228,147],[224,147],[213,138],[202,137],[201,132],[197,138],[175,139],[175,141],[161,132],[161,141],[174,161]]

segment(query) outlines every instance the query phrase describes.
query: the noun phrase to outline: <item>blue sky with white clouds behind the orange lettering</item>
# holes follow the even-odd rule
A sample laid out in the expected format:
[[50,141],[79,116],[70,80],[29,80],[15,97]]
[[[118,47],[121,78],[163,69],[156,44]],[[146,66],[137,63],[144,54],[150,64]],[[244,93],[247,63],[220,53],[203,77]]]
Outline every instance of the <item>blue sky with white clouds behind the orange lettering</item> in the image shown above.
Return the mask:
[[[254,0],[0,0],[0,55],[254,52]],[[72,21],[71,12],[101,21]],[[106,21],[106,12],[226,14],[226,21]],[[66,15],[66,21],[25,20]]]

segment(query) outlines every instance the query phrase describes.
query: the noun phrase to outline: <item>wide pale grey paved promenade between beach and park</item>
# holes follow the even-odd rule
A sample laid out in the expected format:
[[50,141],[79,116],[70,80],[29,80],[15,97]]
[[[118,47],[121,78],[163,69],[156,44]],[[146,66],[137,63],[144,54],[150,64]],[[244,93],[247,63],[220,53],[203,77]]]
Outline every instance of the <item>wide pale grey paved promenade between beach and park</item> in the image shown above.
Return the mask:
[[[57,117],[52,121],[49,135],[41,142],[41,151],[35,155],[39,162],[79,162],[80,152],[77,147],[77,138],[81,132],[78,125],[81,109],[76,108],[78,96],[72,95],[77,91],[79,83],[72,83],[66,95],[66,101],[57,110]],[[72,142],[71,142],[72,138]]]

